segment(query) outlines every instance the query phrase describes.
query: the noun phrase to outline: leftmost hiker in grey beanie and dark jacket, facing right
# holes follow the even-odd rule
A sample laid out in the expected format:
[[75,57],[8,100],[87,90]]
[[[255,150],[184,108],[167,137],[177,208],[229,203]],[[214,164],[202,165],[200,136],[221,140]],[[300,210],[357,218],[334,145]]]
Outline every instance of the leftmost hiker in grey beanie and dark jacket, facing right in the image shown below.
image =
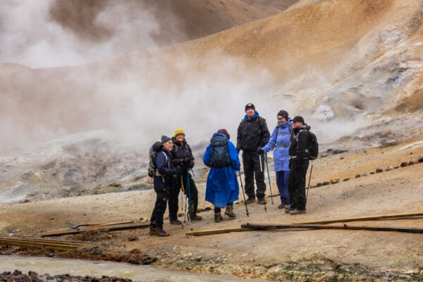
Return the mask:
[[153,145],[153,149],[158,153],[154,159],[157,168],[154,175],[154,192],[157,194],[157,199],[150,220],[149,234],[152,236],[163,237],[169,235],[163,230],[163,216],[166,211],[169,189],[173,185],[174,176],[178,173],[178,169],[173,168],[171,155],[169,154],[172,147],[173,141],[167,136],[161,136],[161,144],[156,142]]

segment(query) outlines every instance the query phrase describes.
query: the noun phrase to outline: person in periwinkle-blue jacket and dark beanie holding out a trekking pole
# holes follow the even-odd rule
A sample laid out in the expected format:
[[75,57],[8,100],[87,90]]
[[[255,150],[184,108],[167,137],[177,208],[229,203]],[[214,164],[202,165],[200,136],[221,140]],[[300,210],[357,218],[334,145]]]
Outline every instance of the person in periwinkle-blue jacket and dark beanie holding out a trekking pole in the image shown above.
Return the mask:
[[289,146],[290,137],[293,135],[293,122],[288,117],[287,111],[279,111],[278,124],[271,134],[269,142],[257,149],[257,152],[267,153],[271,149],[274,150],[274,171],[276,171],[276,184],[278,185],[279,195],[281,195],[281,204],[279,209],[290,207],[290,197],[288,193],[288,178],[289,178]]

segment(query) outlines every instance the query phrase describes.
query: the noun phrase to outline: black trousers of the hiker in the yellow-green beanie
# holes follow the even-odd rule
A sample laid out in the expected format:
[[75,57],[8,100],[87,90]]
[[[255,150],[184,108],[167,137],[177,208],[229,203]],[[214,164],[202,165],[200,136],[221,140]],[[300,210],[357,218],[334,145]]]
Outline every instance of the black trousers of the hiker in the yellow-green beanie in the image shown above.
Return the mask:
[[[190,204],[190,207],[188,206],[188,214],[190,213],[189,210],[191,208],[191,215],[195,216],[197,215],[197,208],[198,208],[198,190],[197,186],[195,186],[195,181],[192,179],[192,176],[190,174],[190,187],[188,192],[188,173],[184,173],[182,176],[179,176],[176,180],[175,185],[173,186],[173,189],[169,192],[169,220],[170,221],[176,221],[178,219],[178,197],[179,197],[179,191],[180,191],[180,181],[183,181],[183,187],[185,194],[187,195],[188,203]],[[190,197],[190,199],[188,198]]]

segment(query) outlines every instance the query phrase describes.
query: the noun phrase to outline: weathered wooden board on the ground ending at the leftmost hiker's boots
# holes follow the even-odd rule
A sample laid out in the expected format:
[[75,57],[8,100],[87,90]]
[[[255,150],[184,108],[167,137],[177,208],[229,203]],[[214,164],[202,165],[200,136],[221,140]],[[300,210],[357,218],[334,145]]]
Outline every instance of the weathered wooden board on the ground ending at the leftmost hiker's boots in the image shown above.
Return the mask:
[[126,230],[126,229],[135,229],[135,228],[145,228],[149,226],[149,222],[133,222],[133,223],[123,223],[123,224],[114,224],[114,225],[102,225],[102,226],[84,226],[78,229],[66,229],[60,231],[46,231],[41,233],[42,237],[49,236],[61,236],[69,234],[78,234],[85,231],[117,231],[117,230]]

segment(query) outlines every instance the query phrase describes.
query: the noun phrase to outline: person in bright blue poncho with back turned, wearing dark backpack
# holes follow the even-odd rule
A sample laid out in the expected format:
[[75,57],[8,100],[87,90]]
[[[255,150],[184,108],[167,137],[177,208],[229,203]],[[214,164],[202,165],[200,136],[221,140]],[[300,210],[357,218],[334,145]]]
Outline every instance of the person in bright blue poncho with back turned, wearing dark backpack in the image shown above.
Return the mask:
[[226,129],[214,133],[203,156],[203,162],[210,169],[207,176],[206,201],[214,205],[214,222],[222,220],[221,209],[234,218],[233,202],[238,200],[240,188],[236,171],[240,170],[238,151],[229,139]]

